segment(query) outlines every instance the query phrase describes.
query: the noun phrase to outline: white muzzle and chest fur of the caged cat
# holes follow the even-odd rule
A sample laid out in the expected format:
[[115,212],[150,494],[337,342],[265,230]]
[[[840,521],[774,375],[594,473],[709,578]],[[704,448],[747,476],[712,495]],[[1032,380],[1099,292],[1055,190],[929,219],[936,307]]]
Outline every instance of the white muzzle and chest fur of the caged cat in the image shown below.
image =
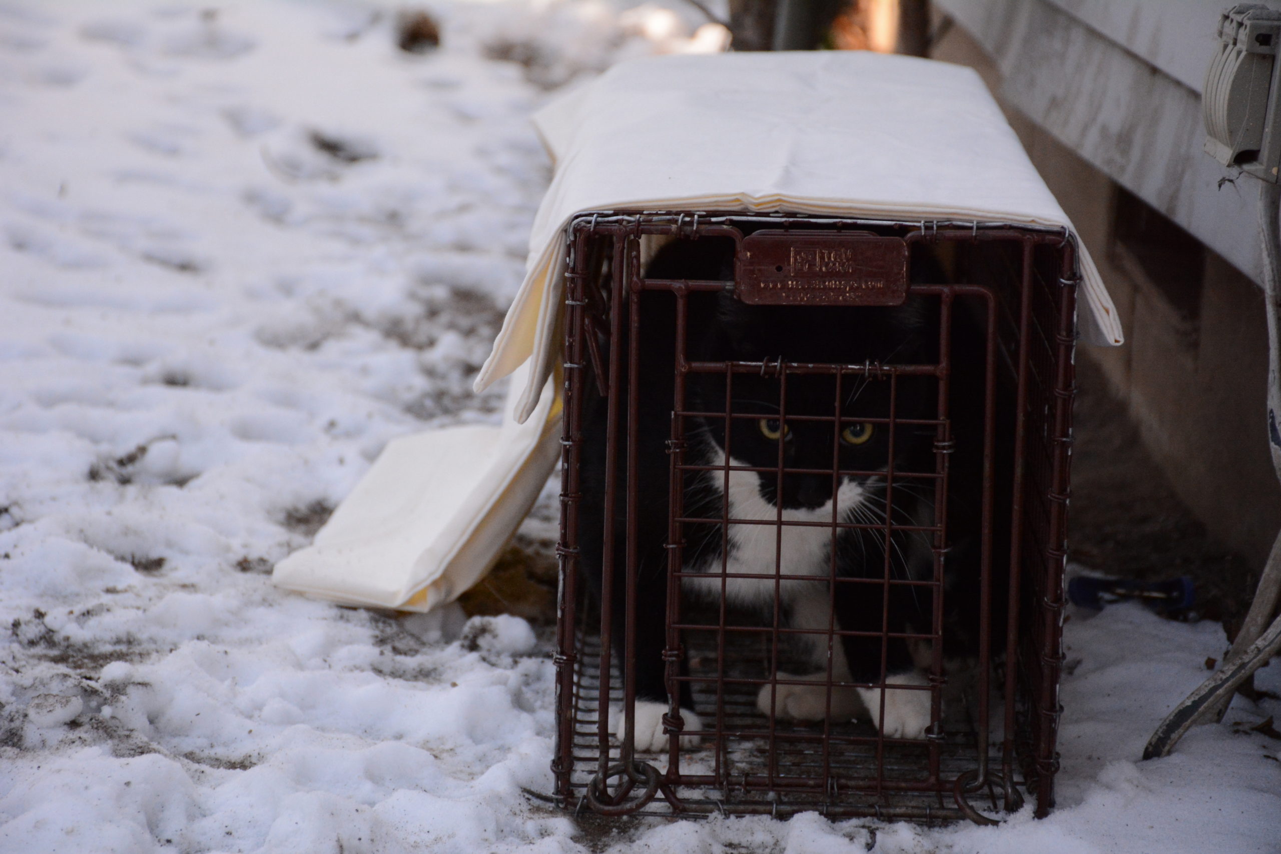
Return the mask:
[[[717,448],[714,452],[712,465],[720,466],[724,461],[725,453]],[[730,465],[748,463],[730,457]],[[776,575],[828,577],[831,572],[831,554],[835,545],[835,529],[830,525],[834,519],[844,521],[865,494],[861,484],[843,483],[836,492],[835,516],[831,499],[813,510],[794,508],[784,510],[781,513],[784,522],[826,522],[826,525],[778,525],[779,510],[761,497],[761,476],[757,472],[730,471],[726,489],[725,475],[712,471],[708,483],[719,494],[728,497],[730,519],[748,521],[730,524],[729,557],[717,554],[690,567],[703,576],[687,577],[685,584],[711,595],[720,595],[724,590],[726,598],[740,604],[772,600],[775,585],[784,600],[796,595],[801,588],[808,586],[807,583],[796,579],[776,580]],[[751,524],[753,521],[772,524]],[[743,575],[758,576],[760,580],[729,577]]]

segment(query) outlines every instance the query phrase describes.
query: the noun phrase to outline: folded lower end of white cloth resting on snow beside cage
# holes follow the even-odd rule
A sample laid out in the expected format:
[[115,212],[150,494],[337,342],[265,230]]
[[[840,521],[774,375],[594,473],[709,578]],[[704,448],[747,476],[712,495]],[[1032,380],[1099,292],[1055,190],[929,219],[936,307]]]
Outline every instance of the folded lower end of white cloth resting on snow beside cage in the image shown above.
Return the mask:
[[479,581],[537,501],[560,456],[560,399],[542,387],[530,417],[512,378],[502,426],[393,439],[316,534],[275,565],[281,588],[354,606],[429,611]]

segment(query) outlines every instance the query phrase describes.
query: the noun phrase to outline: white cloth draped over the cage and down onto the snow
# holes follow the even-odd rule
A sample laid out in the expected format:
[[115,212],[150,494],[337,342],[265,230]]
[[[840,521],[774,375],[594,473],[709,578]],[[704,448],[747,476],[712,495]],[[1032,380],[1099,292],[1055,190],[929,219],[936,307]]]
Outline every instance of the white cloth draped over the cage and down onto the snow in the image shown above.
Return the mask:
[[[388,446],[282,586],[425,611],[483,577],[559,457],[565,227],[605,210],[788,211],[1072,229],[1000,109],[959,65],[862,51],[619,64],[534,117],[555,160],[525,280],[477,378],[516,373],[505,424]],[[1080,247],[1082,337],[1122,343]],[[519,373],[518,373],[518,369]]]

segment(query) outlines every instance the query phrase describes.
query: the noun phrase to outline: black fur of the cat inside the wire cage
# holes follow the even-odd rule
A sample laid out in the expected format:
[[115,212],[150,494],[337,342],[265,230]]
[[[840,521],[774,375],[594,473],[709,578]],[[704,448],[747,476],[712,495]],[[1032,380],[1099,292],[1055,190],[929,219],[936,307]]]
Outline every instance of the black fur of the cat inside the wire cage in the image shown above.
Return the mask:
[[[715,241],[676,241],[661,251],[647,269],[649,278],[680,279],[720,279],[733,278],[733,246],[717,246]],[[930,277],[938,280],[938,268],[929,256],[913,257],[913,279]],[[934,364],[938,360],[938,315],[936,301],[910,301],[899,307],[780,307],[748,306],[729,293],[698,293],[689,298],[689,355],[694,360],[706,361],[762,361],[783,359],[787,362],[829,362],[829,364]],[[666,703],[667,694],[664,680],[664,661],[661,652],[666,645],[665,613],[667,602],[667,495],[669,465],[667,440],[671,435],[671,411],[674,389],[674,344],[675,344],[675,297],[670,293],[647,292],[642,298],[640,328],[643,338],[639,342],[640,387],[637,431],[637,588],[634,598],[635,648],[634,656],[624,654],[625,638],[625,566],[624,543],[626,526],[626,424],[617,425],[619,448],[616,470],[615,508],[615,574],[614,595],[611,597],[612,631],[611,643],[615,661],[620,670],[628,671],[635,679],[637,697],[642,700]],[[959,314],[958,314],[959,316]],[[626,325],[624,325],[625,328]],[[606,342],[601,342],[605,344]],[[628,342],[620,342],[615,352],[625,356]],[[954,324],[953,362],[958,365],[953,376],[951,396],[954,438],[958,452],[952,455],[953,490],[949,495],[949,529],[952,552],[948,554],[948,575],[945,585],[945,622],[948,625],[945,641],[952,645],[949,652],[972,653],[976,641],[979,584],[977,574],[977,529],[980,494],[975,488],[979,483],[981,462],[981,346],[979,330],[970,323]],[[977,367],[974,367],[975,357]],[[624,367],[626,362],[623,362]],[[626,371],[620,393],[625,399]],[[787,410],[790,416],[822,415],[831,416],[835,403],[836,380],[831,375],[787,376]],[[842,399],[844,417],[888,417],[890,407],[890,383],[888,380],[866,379],[847,375],[842,380]],[[897,419],[934,417],[938,384],[926,378],[899,378],[894,393]],[[603,563],[605,530],[605,457],[606,457],[606,399],[589,394],[585,401],[583,419],[583,449],[580,489],[583,501],[579,511],[579,531],[582,566],[589,586],[601,599],[601,566]],[[725,411],[725,378],[716,375],[690,375],[687,405],[693,411]],[[737,374],[730,393],[733,411],[760,414],[763,419],[734,419],[728,437],[729,456],[735,465],[746,463],[758,467],[779,465],[780,446],[783,465],[787,469],[812,469],[830,472],[834,453],[839,457],[843,470],[884,471],[889,463],[890,435],[885,425],[872,425],[872,435],[862,444],[836,440],[830,423],[807,423],[804,420],[785,420],[788,433],[783,439],[770,439],[767,430],[778,430],[783,425],[778,420],[779,379],[774,375]],[[772,417],[771,417],[772,416]],[[866,425],[856,424],[866,430]],[[858,437],[856,437],[858,438]],[[934,470],[935,430],[930,425],[898,425],[893,435],[893,456],[895,471],[930,472]],[[720,465],[721,452],[726,448],[724,419],[689,419],[687,423],[688,449],[685,461],[694,465]],[[742,474],[735,474],[742,478]],[[751,474],[748,476],[752,476]],[[712,479],[716,479],[715,481]],[[861,510],[842,513],[842,521],[877,521],[876,511],[884,507],[884,478],[853,479],[863,480],[865,497]],[[730,487],[731,494],[746,495],[742,480]],[[724,501],[722,472],[687,472],[684,478],[685,516],[714,520],[708,524],[684,525],[684,570],[708,574],[707,583],[690,584],[687,580],[683,595],[719,598],[721,590],[721,566],[728,562],[722,553],[722,526],[720,519]],[[847,485],[847,489],[849,487]],[[831,474],[788,474],[783,478],[781,490],[778,476],[760,474],[758,499],[767,510],[767,517],[778,506],[781,492],[783,510],[804,513],[815,512],[833,498]],[[844,492],[842,493],[845,494]],[[929,522],[933,519],[933,481],[913,480],[895,487],[893,499],[895,521]],[[747,503],[746,499],[744,502]],[[758,507],[760,512],[761,507]],[[830,520],[830,506],[826,519]],[[739,540],[730,539],[729,560],[746,560],[753,551],[748,526],[734,526]],[[769,538],[769,547],[756,543],[756,549],[769,558],[762,580],[738,580],[726,583],[725,589],[735,604],[755,607],[762,612],[772,612],[775,589],[772,581],[772,544],[778,528],[775,525],[756,526],[757,536]],[[835,602],[826,606],[826,589],[830,566],[831,529],[797,529],[790,531],[822,531],[826,543],[806,540],[811,547],[821,548],[815,557],[813,548],[802,554],[799,547],[794,553],[784,549],[781,554],[784,574],[815,575],[819,583],[793,583],[784,593],[781,609],[785,621],[794,622],[793,612],[802,607],[802,594],[813,586],[822,599],[824,608],[833,607],[839,627],[851,631],[881,631],[883,585],[839,583],[835,586]],[[803,534],[798,534],[803,536]],[[842,579],[883,579],[886,571],[886,551],[889,551],[889,574],[893,579],[930,577],[933,560],[927,540],[907,533],[897,533],[886,543],[881,531],[844,530],[836,538],[836,575]],[[798,562],[803,562],[801,566]],[[994,566],[1000,566],[994,562]],[[739,567],[742,568],[742,567]],[[735,571],[731,565],[730,572]],[[994,575],[998,575],[994,572]],[[808,586],[807,586],[808,585]],[[999,593],[999,592],[998,592]],[[1003,594],[997,595],[1002,599]],[[907,631],[929,632],[931,626],[933,600],[927,588],[890,585],[888,616],[884,626],[892,634]],[[826,617],[824,617],[826,618]],[[1003,611],[994,613],[994,625],[1003,625]],[[825,626],[824,626],[825,627]],[[999,640],[999,636],[998,636]],[[881,657],[885,657],[884,675],[910,673],[913,671],[913,657],[908,644],[890,640],[881,649],[883,640],[872,636],[844,636],[843,648],[848,661],[849,677],[856,682],[879,682],[883,679]],[[826,641],[822,643],[826,647]],[[816,661],[816,668],[819,668]],[[680,672],[688,672],[684,661]],[[688,682],[680,685],[681,708],[693,708]]]

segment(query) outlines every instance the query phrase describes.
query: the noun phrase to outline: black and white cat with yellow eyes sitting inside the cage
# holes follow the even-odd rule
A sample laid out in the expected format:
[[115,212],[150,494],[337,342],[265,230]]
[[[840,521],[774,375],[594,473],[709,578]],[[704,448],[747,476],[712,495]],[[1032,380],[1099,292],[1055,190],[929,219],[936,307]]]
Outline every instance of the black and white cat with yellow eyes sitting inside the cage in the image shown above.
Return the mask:
[[[711,241],[676,241],[651,261],[649,278],[729,279],[733,245],[710,251]],[[642,300],[639,342],[642,385],[638,389],[637,431],[637,589],[634,599],[634,657],[624,650],[625,608],[625,513],[623,484],[624,447],[620,443],[617,469],[619,506],[615,517],[615,594],[612,609],[612,648],[623,672],[632,671],[637,686],[635,746],[662,749],[667,743],[662,717],[667,712],[662,649],[667,597],[667,497],[669,456],[666,442],[671,430],[673,374],[675,344],[675,298],[670,293],[647,292]],[[926,305],[910,301],[899,307],[806,307],[748,306],[729,293],[697,293],[689,297],[690,357],[699,361],[775,361],[825,364],[929,364],[936,360],[936,320]],[[615,352],[625,353],[626,342]],[[624,371],[625,374],[625,371]],[[929,576],[933,572],[929,544],[903,533],[886,539],[883,530],[848,530],[834,535],[833,521],[877,524],[886,512],[886,478],[890,455],[895,471],[933,471],[934,429],[898,424],[893,430],[879,419],[890,415],[893,393],[895,420],[933,416],[936,385],[933,380],[899,378],[892,391],[888,379],[844,375],[840,382],[843,417],[867,421],[842,423],[839,434],[829,421],[807,421],[804,416],[831,417],[835,410],[838,379],[831,374],[788,374],[787,412],[780,412],[780,379],[770,371],[735,374],[726,394],[722,374],[692,374],[688,385],[690,411],[724,412],[726,398],[737,415],[726,433],[724,417],[690,417],[687,423],[685,461],[693,465],[767,469],[775,471],[689,472],[684,479],[687,517],[708,519],[707,524],[684,525],[684,571],[703,577],[687,577],[683,594],[719,600],[721,592],[734,606],[772,613],[775,589],[784,626],[812,630],[811,661],[820,671],[813,685],[765,685],[757,705],[779,717],[821,720],[829,712],[828,631],[829,626],[847,631],[902,635],[927,632],[931,622],[931,597],[927,588],[883,583],[835,584],[833,600],[831,568],[840,579],[883,580],[886,571],[894,580]],[[623,389],[625,392],[625,388]],[[600,567],[603,558],[606,402],[589,401],[584,408],[580,549],[582,566],[589,585],[600,598]],[[619,435],[625,428],[619,425]],[[833,475],[834,461],[845,471]],[[783,478],[779,467],[788,470]],[[793,472],[790,470],[807,470]],[[929,522],[933,510],[920,483],[897,483],[893,512],[899,524]],[[780,512],[781,507],[781,512]],[[730,524],[722,536],[722,515],[744,520]],[[813,525],[783,525],[779,519]],[[758,520],[760,525],[748,524]],[[726,545],[728,548],[722,548]],[[889,557],[886,558],[886,552]],[[724,567],[724,570],[722,570]],[[888,568],[886,568],[888,567]],[[722,575],[724,571],[724,575]],[[776,574],[812,576],[813,581],[776,581]],[[747,575],[755,577],[725,577]],[[963,599],[963,597],[962,597]],[[883,618],[883,615],[885,618]],[[884,624],[884,625],[883,625]],[[884,644],[884,649],[883,649]],[[902,685],[888,689],[836,688],[831,690],[834,718],[863,717],[886,736],[917,739],[930,725],[931,695],[913,689],[926,685],[916,666],[922,652],[902,640],[888,641],[877,634],[844,635],[830,645],[831,680]],[[915,653],[915,656],[913,656]],[[883,671],[884,657],[884,671]],[[681,675],[688,673],[680,662]],[[802,681],[806,676],[779,673],[781,680]],[[688,682],[680,682],[683,732],[702,729],[693,712]],[[623,732],[621,714],[614,721]],[[689,735],[684,736],[692,737]]]

